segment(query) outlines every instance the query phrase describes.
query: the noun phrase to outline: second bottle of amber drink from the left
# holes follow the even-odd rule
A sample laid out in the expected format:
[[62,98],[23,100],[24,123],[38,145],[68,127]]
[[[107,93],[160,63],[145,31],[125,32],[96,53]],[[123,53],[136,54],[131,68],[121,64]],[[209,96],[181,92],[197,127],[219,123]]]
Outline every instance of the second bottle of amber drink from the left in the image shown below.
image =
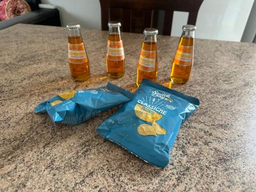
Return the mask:
[[120,35],[120,22],[109,22],[108,51],[106,53],[106,72],[112,78],[124,75],[124,51]]

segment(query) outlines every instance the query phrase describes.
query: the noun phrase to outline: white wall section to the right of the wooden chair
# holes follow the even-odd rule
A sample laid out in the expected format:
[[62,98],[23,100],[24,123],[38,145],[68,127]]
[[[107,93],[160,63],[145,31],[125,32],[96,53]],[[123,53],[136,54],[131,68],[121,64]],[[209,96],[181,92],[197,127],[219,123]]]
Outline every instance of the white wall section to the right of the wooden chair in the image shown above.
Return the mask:
[[199,38],[240,41],[254,0],[205,0],[199,10]]

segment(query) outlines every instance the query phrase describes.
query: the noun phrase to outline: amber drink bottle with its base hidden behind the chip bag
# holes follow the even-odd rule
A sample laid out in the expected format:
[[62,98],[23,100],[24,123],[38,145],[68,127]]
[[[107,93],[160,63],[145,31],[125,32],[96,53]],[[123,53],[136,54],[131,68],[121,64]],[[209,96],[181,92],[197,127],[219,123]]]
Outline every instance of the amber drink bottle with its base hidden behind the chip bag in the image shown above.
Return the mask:
[[144,40],[137,68],[137,86],[139,87],[143,78],[157,81],[157,34],[155,28],[146,28],[143,31]]

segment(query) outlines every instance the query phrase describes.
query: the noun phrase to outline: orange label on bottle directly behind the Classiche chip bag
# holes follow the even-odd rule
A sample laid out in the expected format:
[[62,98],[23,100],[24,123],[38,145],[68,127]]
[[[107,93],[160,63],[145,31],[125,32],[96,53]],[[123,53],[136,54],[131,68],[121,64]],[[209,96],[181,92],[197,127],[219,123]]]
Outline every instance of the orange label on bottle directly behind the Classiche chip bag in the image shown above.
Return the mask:
[[152,72],[156,69],[156,51],[146,51],[141,49],[138,69]]

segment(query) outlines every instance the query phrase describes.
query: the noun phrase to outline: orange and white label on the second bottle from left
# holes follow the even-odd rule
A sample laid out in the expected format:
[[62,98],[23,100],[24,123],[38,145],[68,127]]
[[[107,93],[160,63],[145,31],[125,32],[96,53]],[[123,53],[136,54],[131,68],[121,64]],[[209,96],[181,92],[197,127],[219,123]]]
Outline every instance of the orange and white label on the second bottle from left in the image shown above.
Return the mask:
[[123,42],[120,41],[110,41],[108,40],[108,51],[106,56],[110,60],[123,60],[124,59],[124,51],[123,51]]

